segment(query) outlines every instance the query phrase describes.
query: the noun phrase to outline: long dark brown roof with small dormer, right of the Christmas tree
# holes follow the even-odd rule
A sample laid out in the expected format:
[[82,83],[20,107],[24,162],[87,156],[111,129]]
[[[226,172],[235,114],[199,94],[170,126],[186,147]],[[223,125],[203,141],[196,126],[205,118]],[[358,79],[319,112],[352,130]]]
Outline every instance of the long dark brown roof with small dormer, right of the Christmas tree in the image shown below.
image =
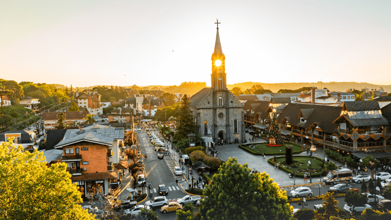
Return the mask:
[[[309,112],[308,109],[312,109],[311,115],[307,114]],[[308,116],[306,122],[300,122],[300,111],[306,112],[306,116]],[[310,128],[316,123],[322,131],[334,133],[338,131],[338,124],[333,124],[332,122],[340,116],[341,111],[341,106],[290,103],[278,115],[277,121],[281,122],[284,118],[289,118],[288,122],[290,125],[303,128]]]

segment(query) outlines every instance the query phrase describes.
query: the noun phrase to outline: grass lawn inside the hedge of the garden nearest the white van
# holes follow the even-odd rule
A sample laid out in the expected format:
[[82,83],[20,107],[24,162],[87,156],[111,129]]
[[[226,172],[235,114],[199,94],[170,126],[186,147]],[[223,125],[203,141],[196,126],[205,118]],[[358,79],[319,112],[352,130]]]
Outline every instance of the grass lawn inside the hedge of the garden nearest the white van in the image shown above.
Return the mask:
[[[312,158],[312,175],[317,174],[320,172],[320,164],[322,161]],[[320,158],[319,158],[320,159]],[[307,174],[307,176],[310,174],[310,166],[307,166],[308,161],[310,161],[310,157],[301,157],[301,156],[293,156],[293,161],[295,165],[292,166],[292,164],[288,167],[285,164],[285,157],[283,158],[277,158],[276,161],[280,162],[280,167],[284,167],[288,169],[291,172],[295,172],[295,174]],[[297,167],[296,167],[297,166]]]

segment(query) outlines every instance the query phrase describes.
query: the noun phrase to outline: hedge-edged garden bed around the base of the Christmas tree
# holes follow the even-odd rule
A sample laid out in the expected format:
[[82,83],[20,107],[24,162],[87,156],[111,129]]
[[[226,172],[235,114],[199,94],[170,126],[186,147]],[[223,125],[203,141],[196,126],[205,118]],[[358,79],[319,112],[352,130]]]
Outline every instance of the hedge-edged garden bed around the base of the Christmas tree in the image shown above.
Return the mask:
[[292,142],[285,142],[283,146],[269,147],[267,143],[245,144],[238,147],[254,155],[285,155],[285,146],[292,145],[293,154],[301,153],[301,146]]

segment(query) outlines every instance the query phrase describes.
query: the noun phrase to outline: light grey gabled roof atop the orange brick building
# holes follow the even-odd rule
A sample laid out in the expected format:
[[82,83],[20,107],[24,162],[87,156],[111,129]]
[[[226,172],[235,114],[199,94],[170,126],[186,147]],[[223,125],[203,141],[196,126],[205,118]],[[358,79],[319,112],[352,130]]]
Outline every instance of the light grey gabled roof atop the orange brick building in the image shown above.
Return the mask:
[[[104,129],[104,128],[102,128],[102,129]],[[76,129],[74,129],[74,130],[76,130]],[[68,131],[72,131],[72,130],[68,130]],[[79,135],[72,136],[69,138],[66,138],[66,136],[67,136],[67,133],[65,133],[64,140],[61,141],[60,143],[58,143],[57,145],[55,145],[54,148],[65,147],[67,145],[74,144],[74,143],[77,143],[80,141],[87,141],[87,142],[92,142],[92,143],[102,144],[102,145],[107,145],[107,146],[113,145],[113,142],[114,142],[113,137],[106,136],[106,135],[103,135],[103,134],[100,134],[100,133],[97,133],[94,131],[88,131],[88,132],[81,133]]]

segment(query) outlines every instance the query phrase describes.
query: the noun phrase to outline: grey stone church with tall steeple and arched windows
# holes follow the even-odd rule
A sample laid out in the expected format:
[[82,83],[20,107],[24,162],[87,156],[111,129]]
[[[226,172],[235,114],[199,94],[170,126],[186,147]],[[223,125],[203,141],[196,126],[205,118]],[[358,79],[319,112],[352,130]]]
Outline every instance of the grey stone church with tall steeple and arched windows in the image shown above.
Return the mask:
[[[217,34],[212,54],[210,88],[204,88],[190,97],[190,109],[197,132],[211,137],[214,143],[244,143],[243,105],[227,89],[226,57],[222,53],[220,37]],[[204,138],[205,139],[205,138]]]

